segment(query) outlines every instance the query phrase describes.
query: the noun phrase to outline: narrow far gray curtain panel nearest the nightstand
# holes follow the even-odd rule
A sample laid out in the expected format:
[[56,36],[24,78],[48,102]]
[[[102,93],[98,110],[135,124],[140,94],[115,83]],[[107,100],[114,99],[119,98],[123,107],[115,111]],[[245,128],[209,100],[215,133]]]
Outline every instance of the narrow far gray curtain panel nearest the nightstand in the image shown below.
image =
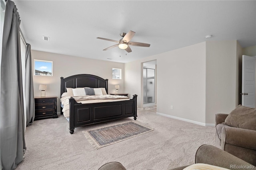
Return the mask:
[[33,69],[31,59],[31,45],[26,47],[26,66],[25,66],[25,99],[26,99],[26,125],[33,123],[35,118],[35,102],[34,102],[34,88],[33,88]]

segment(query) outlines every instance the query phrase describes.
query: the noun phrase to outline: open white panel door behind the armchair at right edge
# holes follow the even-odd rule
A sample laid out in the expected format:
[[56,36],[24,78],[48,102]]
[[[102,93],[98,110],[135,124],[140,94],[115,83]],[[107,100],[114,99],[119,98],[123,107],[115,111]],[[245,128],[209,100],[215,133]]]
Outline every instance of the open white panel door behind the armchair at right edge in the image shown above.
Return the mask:
[[242,56],[242,106],[255,107],[256,57]]

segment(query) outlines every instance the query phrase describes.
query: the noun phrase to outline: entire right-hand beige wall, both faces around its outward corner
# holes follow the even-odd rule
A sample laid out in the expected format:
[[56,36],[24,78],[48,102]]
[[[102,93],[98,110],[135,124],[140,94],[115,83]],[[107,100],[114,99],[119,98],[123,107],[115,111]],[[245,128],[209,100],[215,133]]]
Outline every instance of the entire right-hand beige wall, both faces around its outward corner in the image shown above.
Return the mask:
[[157,112],[213,125],[216,113],[239,103],[241,53],[236,40],[209,41],[126,63],[125,90],[138,94],[142,108],[142,63],[157,60]]

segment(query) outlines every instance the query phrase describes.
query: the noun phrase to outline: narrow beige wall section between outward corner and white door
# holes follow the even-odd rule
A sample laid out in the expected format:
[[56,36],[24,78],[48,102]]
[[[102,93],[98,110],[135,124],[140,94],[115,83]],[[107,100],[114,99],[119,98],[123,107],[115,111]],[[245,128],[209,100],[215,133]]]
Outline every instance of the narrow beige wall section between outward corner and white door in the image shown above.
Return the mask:
[[237,41],[206,42],[206,123],[237,105]]

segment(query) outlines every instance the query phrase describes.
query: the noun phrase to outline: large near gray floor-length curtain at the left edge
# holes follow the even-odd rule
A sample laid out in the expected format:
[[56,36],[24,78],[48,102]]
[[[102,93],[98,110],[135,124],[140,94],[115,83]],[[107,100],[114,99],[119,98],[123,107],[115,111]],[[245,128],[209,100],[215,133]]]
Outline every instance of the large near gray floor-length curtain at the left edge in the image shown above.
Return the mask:
[[24,102],[20,57],[20,16],[14,2],[6,2],[1,57],[0,152],[3,170],[23,160]]

